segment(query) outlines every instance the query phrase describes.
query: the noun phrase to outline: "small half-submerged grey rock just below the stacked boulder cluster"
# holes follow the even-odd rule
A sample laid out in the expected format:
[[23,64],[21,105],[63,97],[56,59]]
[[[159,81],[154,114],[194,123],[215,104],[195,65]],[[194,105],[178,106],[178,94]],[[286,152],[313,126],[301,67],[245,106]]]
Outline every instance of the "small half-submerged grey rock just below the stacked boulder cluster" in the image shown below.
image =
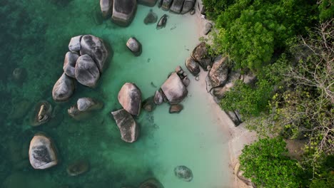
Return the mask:
[[103,103],[93,98],[79,98],[76,105],[71,106],[67,112],[76,120],[82,120],[89,117],[91,111],[100,110],[103,108]]

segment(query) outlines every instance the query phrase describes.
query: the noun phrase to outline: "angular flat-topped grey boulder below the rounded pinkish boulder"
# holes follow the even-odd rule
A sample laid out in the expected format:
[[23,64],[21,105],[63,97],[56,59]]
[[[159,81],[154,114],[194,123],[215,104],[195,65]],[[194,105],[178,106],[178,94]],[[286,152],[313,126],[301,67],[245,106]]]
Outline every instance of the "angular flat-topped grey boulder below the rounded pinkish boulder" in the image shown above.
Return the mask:
[[117,110],[111,114],[121,132],[121,139],[125,142],[135,142],[138,138],[139,126],[133,120],[132,115],[124,109]]

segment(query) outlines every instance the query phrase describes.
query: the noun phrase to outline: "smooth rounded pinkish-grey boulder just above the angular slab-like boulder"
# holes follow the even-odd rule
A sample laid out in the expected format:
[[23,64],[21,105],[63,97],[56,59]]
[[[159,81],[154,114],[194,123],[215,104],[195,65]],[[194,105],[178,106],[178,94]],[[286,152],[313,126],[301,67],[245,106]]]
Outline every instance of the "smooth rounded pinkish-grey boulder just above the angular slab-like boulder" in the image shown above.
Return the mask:
[[141,90],[134,83],[125,83],[118,92],[118,102],[131,115],[141,113]]

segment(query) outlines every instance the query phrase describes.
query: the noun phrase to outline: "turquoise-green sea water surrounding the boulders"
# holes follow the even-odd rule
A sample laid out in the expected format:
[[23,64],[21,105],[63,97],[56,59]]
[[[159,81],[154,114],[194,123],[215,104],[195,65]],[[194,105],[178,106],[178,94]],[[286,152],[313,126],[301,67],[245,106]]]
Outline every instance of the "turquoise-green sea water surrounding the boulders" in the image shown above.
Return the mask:
[[[206,89],[191,77],[189,95],[180,114],[169,114],[168,105],[153,113],[142,111],[138,141],[121,140],[110,112],[121,108],[117,94],[123,83],[141,88],[143,99],[154,94],[168,73],[184,61],[198,43],[196,16],[169,14],[166,28],[145,25],[151,8],[138,6],[127,28],[103,21],[98,1],[21,0],[0,1],[0,187],[121,187],[156,177],[164,187],[229,187],[227,134],[212,112]],[[159,18],[166,14],[157,7]],[[110,43],[114,55],[98,86],[76,84],[66,103],[54,103],[51,90],[61,75],[71,36],[92,34]],[[125,46],[135,36],[143,53],[133,56]],[[184,67],[184,66],[183,66]],[[15,83],[14,68],[25,68],[26,78]],[[204,78],[201,78],[204,79]],[[76,121],[67,109],[81,97],[103,101],[104,108],[86,120]],[[34,105],[48,100],[58,109],[56,117],[31,127]],[[28,147],[36,132],[46,132],[59,150],[61,162],[46,170],[33,169]],[[90,170],[69,177],[68,167],[76,160],[88,160]],[[191,182],[175,177],[174,167],[186,165],[193,172]]]

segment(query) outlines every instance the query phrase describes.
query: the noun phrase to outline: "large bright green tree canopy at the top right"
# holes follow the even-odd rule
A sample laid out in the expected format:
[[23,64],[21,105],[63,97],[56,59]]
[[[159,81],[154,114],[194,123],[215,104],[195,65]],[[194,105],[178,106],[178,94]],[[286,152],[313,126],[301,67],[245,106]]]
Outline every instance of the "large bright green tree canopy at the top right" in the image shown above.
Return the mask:
[[303,0],[236,1],[216,19],[214,51],[228,54],[236,68],[258,70],[286,41],[305,31],[314,19],[308,16],[312,9]]

